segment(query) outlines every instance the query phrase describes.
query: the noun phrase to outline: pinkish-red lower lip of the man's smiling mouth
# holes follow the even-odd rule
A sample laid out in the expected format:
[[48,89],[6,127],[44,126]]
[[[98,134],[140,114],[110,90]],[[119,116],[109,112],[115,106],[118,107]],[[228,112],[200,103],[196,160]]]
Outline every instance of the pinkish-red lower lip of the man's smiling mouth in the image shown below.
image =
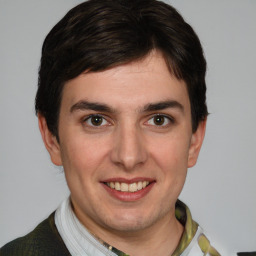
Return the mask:
[[122,192],[122,191],[118,191],[113,188],[110,188],[106,184],[102,183],[103,187],[107,190],[107,192],[112,197],[125,202],[138,201],[141,198],[145,197],[153,188],[154,184],[155,182],[151,182],[148,186],[136,192]]

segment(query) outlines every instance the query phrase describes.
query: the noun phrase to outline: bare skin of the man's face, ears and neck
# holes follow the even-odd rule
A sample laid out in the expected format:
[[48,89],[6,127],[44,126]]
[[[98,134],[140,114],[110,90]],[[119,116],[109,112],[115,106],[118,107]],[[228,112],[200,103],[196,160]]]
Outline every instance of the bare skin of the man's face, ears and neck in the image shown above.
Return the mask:
[[[68,81],[59,143],[40,114],[39,127],[52,162],[64,167],[83,225],[130,255],[175,250],[183,232],[175,202],[197,161],[205,122],[192,133],[185,82],[170,74],[161,53]],[[134,196],[104,183],[134,179],[149,180],[150,188]]]

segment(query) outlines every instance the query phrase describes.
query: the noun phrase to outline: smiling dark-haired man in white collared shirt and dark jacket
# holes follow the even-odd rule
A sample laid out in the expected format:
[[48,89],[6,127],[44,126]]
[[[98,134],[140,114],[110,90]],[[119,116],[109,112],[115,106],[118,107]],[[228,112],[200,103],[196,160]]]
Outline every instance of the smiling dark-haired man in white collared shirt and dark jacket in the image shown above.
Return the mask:
[[219,255],[178,200],[207,118],[193,29],[156,0],[91,0],[42,49],[36,112],[70,197],[1,255]]

